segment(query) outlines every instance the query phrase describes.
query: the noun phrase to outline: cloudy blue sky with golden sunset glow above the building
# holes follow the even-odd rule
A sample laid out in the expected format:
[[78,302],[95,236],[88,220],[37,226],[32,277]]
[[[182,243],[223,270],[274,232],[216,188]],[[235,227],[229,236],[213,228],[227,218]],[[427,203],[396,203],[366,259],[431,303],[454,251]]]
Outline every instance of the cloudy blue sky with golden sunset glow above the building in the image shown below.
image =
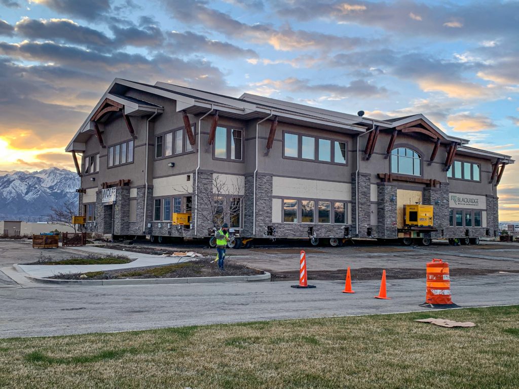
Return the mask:
[[[0,170],[64,147],[115,77],[422,113],[519,160],[518,1],[0,0]],[[519,163],[499,186],[519,220]]]

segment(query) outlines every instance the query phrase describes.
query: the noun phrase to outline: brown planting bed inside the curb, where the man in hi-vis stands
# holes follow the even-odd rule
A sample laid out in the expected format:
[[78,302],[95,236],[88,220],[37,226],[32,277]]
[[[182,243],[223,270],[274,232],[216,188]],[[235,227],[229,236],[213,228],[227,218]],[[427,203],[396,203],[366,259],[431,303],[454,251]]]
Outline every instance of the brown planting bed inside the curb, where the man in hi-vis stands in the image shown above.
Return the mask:
[[[225,270],[220,271],[212,258],[175,263],[173,265],[149,266],[144,268],[118,269],[109,271],[59,274],[51,279],[56,280],[120,280],[120,279],[154,279],[184,277],[215,277],[221,275],[258,275],[261,270],[251,269],[233,261],[225,261]],[[86,275],[86,277],[81,277]]]

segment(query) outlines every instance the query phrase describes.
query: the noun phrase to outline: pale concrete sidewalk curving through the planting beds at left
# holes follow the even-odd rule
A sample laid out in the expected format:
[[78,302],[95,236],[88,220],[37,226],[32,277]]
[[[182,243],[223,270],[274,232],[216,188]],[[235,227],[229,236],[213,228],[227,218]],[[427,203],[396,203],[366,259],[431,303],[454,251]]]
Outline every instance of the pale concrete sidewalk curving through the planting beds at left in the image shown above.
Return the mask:
[[18,265],[26,275],[33,277],[50,277],[66,273],[85,273],[90,271],[105,271],[115,269],[131,269],[146,266],[170,265],[171,263],[187,262],[196,258],[192,257],[163,257],[160,255],[141,254],[130,251],[121,251],[95,246],[67,247],[78,255],[97,254],[103,256],[126,255],[135,259],[130,263],[119,263],[118,265]]

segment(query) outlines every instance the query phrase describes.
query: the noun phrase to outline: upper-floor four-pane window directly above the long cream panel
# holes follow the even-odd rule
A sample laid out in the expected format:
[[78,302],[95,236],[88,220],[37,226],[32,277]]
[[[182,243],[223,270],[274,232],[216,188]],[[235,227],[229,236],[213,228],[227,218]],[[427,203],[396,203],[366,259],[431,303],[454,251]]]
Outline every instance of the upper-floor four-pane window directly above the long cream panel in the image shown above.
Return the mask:
[[285,132],[283,157],[345,165],[347,144],[326,138]]

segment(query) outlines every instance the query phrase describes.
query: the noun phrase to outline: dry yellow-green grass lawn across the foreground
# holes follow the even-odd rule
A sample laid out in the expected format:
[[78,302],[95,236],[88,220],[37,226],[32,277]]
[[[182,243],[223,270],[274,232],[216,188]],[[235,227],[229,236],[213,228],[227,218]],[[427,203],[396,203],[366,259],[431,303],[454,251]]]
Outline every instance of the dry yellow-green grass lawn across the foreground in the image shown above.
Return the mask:
[[7,339],[0,366],[9,388],[516,388],[519,305]]

